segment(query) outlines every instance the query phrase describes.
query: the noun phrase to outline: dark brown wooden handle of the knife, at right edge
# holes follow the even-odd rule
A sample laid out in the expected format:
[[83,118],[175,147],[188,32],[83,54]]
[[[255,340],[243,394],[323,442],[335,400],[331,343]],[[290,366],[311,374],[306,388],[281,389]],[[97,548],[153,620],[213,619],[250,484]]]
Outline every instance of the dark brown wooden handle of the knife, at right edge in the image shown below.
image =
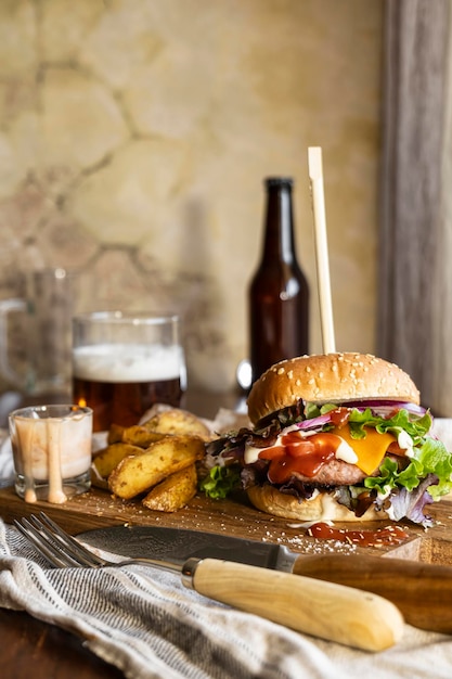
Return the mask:
[[354,587],[391,601],[414,627],[452,633],[452,568],[390,556],[299,556],[293,573]]

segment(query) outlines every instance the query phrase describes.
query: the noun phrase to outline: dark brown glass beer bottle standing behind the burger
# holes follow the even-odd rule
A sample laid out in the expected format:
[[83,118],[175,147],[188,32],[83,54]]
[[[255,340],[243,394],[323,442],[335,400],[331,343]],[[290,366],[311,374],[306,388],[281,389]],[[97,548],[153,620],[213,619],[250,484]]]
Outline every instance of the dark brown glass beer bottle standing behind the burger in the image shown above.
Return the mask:
[[251,382],[309,351],[309,286],[296,255],[293,180],[268,178],[262,257],[249,286]]

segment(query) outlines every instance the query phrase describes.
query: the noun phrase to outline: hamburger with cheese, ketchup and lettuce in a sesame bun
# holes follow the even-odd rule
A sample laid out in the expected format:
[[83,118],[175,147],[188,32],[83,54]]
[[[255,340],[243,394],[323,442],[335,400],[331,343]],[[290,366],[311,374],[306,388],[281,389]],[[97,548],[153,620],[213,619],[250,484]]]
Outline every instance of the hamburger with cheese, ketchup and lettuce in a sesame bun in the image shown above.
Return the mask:
[[250,427],[207,446],[202,488],[244,489],[259,510],[299,522],[431,525],[451,489],[452,453],[399,367],[372,355],[301,356],[272,366],[247,400]]

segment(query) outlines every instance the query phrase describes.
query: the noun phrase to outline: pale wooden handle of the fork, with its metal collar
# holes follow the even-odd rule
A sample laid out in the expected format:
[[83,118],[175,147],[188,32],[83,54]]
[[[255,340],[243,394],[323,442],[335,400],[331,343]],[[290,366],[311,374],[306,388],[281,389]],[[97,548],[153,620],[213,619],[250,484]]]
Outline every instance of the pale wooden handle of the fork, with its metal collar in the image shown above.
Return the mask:
[[393,604],[349,587],[215,559],[191,559],[183,573],[205,597],[328,641],[383,651],[403,633]]

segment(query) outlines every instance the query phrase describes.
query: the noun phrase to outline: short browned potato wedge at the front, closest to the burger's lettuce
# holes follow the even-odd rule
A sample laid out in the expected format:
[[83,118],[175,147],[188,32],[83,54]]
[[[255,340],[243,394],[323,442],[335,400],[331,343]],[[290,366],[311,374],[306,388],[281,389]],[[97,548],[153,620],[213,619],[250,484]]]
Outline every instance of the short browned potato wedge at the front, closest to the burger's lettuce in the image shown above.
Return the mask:
[[196,465],[175,472],[146,495],[144,507],[158,512],[177,512],[196,495]]

